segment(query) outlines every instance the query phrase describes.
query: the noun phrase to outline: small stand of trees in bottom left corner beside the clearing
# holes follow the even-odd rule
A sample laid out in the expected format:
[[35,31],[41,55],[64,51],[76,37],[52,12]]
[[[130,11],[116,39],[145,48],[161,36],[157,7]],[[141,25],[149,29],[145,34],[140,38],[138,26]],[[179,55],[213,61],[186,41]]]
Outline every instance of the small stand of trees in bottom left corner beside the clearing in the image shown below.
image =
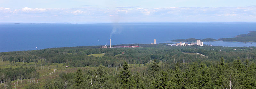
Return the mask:
[[[36,81],[39,78],[39,73],[36,72],[35,68],[27,68],[27,67],[18,67],[18,68],[0,68],[0,80],[1,80],[1,88],[8,88],[10,86],[11,81],[13,80],[22,80],[25,84],[28,84],[27,80],[31,83]],[[19,84],[19,82],[18,82]]]

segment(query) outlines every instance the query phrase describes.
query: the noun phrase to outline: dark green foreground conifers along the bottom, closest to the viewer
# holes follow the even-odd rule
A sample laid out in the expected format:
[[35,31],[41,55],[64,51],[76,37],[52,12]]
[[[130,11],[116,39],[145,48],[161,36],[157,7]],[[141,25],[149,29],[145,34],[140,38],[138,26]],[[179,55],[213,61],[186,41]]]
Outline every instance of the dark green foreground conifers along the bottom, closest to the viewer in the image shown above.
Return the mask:
[[[44,85],[45,89],[255,89],[256,65],[237,58],[217,64],[175,63],[164,69],[156,60],[140,72],[129,70],[124,62],[120,71],[100,65],[96,69],[61,73],[59,78]],[[185,66],[184,66],[185,65]],[[117,73],[116,73],[117,72]]]

